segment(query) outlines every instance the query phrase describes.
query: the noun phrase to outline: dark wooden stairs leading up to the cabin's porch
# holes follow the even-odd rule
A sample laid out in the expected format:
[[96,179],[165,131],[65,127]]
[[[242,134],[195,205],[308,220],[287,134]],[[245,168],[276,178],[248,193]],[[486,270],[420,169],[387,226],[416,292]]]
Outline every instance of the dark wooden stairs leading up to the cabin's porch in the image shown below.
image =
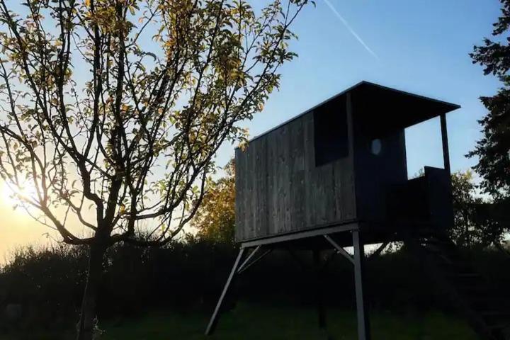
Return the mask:
[[508,305],[444,232],[415,229],[404,239],[480,339],[510,340]]

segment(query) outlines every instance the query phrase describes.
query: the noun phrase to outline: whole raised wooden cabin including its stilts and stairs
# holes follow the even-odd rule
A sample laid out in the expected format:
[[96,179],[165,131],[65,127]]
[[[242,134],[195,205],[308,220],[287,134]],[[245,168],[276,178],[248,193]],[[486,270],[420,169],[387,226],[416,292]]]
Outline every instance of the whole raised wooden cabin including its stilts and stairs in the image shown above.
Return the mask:
[[[453,225],[446,113],[457,108],[363,81],[237,149],[240,251],[206,334],[214,331],[234,278],[273,249],[334,249],[353,263],[358,339],[370,339],[364,246],[381,244],[381,250],[404,241],[483,339],[509,339],[504,311],[487,314],[471,301],[463,278],[470,275],[479,287],[484,281],[446,236]],[[404,129],[435,117],[444,167],[426,166],[424,176],[408,179]],[[484,294],[489,299],[490,291]]]

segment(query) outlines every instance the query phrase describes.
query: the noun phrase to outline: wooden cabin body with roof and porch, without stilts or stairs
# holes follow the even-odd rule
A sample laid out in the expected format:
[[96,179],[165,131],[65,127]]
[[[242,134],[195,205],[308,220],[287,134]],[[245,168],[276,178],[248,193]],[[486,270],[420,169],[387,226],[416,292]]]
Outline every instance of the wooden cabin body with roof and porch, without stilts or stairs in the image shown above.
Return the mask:
[[[362,81],[255,137],[235,154],[237,242],[354,226],[367,244],[397,226],[450,225],[445,115],[457,108]],[[437,116],[446,169],[409,181],[404,129]]]

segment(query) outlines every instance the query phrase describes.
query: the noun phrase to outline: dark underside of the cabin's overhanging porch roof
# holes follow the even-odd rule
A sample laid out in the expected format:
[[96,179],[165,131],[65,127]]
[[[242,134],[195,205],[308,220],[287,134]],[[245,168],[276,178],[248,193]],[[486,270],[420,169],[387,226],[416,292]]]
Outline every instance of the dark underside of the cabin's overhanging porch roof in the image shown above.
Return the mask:
[[401,130],[460,108],[365,81],[348,91],[353,94],[355,119],[373,132]]

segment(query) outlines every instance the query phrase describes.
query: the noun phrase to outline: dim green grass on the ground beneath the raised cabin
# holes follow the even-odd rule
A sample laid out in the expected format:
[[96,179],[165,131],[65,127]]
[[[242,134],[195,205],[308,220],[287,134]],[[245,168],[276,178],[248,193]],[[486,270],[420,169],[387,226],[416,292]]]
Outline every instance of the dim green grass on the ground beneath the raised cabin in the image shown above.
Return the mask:
[[[238,339],[356,339],[356,316],[353,311],[328,310],[327,331],[317,327],[313,309],[267,307],[240,304],[222,316],[214,336],[203,336],[208,322],[205,313],[154,312],[137,319],[105,322],[101,340],[238,340]],[[475,340],[465,322],[441,313],[395,314],[372,312],[373,339],[392,340]],[[67,340],[72,334],[15,334],[0,340]]]

